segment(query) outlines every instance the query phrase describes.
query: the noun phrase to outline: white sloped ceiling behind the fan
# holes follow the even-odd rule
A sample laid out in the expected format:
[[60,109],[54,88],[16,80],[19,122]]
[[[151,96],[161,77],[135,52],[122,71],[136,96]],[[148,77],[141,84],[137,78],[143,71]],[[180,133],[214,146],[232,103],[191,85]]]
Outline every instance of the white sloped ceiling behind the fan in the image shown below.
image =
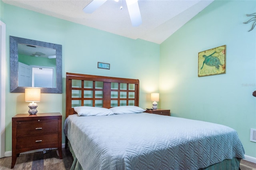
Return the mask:
[[[142,24],[132,27],[125,0],[107,0],[92,14],[83,8],[92,0],[2,0],[120,36],[162,43],[213,0],[138,0]],[[120,6],[122,3],[122,10]]]

